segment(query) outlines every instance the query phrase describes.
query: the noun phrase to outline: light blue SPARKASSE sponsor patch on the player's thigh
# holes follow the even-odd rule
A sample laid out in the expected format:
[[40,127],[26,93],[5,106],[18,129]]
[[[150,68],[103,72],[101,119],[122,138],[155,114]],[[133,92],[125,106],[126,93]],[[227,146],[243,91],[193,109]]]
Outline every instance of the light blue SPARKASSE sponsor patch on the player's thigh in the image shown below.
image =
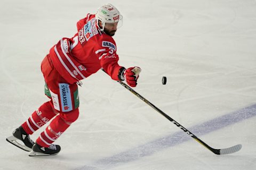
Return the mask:
[[72,99],[70,94],[69,84],[59,83],[60,88],[60,102],[62,112],[69,112],[73,110]]

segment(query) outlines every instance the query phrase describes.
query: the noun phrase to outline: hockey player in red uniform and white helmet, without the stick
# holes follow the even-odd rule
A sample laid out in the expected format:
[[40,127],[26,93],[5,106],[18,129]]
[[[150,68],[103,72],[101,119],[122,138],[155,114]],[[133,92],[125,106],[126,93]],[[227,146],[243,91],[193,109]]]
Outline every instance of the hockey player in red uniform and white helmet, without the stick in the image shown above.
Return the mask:
[[[45,95],[50,98],[6,140],[30,151],[29,156],[56,155],[60,146],[52,144],[78,118],[78,88],[82,79],[103,69],[113,80],[125,80],[136,87],[140,68],[118,64],[116,43],[112,36],[122,24],[122,15],[111,4],[87,14],[77,22],[73,38],[62,38],[50,49],[41,64]],[[47,122],[50,124],[34,142],[29,135]],[[22,143],[18,141],[22,141]]]

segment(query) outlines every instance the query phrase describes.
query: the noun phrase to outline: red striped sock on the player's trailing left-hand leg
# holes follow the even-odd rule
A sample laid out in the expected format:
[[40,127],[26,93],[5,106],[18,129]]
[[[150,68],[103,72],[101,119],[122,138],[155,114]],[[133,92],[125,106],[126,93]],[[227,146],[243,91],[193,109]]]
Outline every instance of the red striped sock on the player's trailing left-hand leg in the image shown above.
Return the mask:
[[45,123],[49,122],[56,114],[53,111],[51,101],[47,101],[38,108],[21,126],[28,133],[33,134]]

